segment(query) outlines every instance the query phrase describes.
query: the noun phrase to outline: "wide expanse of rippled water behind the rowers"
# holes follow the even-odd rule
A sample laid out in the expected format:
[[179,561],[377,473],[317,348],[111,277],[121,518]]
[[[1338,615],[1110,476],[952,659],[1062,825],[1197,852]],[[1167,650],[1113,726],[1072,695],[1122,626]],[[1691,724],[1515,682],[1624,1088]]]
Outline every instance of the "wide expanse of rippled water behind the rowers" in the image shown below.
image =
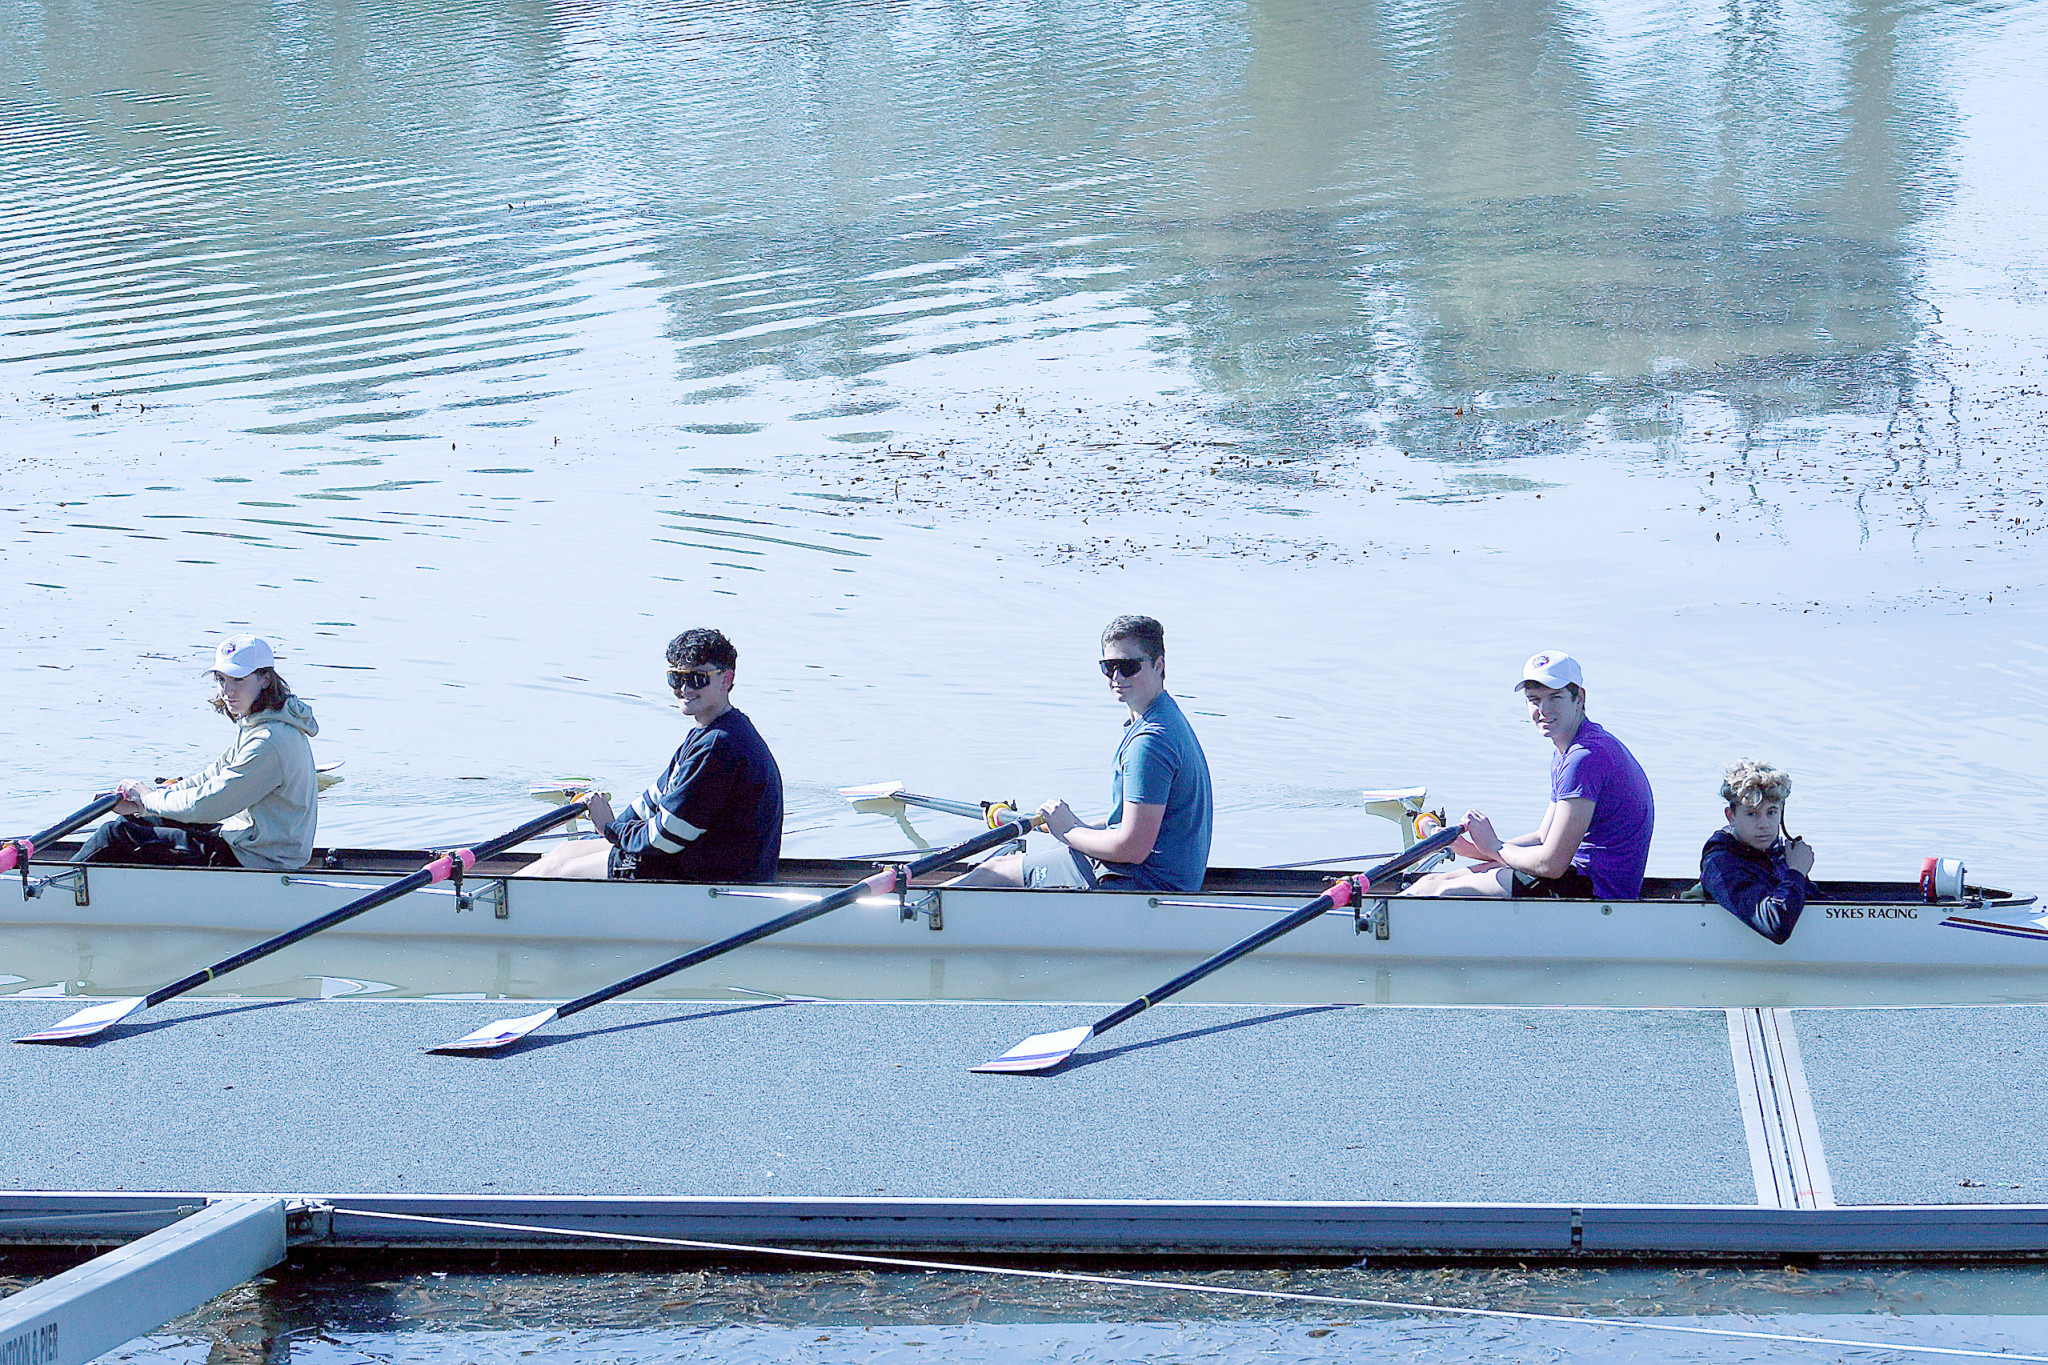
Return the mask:
[[0,823],[205,761],[246,626],[324,837],[475,839],[643,784],[713,622],[786,847],[901,847],[834,788],[1100,806],[1149,610],[1217,862],[1378,847],[1362,786],[1532,825],[1563,645],[1655,872],[1763,753],[1821,874],[2048,884],[2040,6],[0,31]]

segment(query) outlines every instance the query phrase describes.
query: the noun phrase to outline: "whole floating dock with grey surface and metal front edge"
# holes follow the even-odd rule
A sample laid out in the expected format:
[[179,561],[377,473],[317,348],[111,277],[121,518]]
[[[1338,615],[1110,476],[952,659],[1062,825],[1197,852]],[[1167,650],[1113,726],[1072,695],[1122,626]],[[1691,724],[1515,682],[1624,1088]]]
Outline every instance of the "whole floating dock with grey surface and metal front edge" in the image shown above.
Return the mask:
[[0,1046],[0,1242],[172,1191],[924,1250],[2048,1250],[2042,1007],[1163,1005],[989,1076],[1104,1009],[618,1001],[422,1052],[508,1005],[176,1001]]

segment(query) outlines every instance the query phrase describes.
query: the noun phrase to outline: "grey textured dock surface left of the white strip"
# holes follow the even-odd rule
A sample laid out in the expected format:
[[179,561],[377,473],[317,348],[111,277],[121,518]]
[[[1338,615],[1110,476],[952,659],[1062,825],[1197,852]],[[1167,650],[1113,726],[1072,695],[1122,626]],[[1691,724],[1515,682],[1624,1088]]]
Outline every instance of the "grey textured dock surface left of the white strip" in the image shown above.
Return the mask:
[[[72,1001],[0,1001],[8,1038]],[[1753,1203],[1720,1011],[174,1001],[0,1044],[0,1189]],[[1823,1115],[1825,1121],[1825,1115]]]

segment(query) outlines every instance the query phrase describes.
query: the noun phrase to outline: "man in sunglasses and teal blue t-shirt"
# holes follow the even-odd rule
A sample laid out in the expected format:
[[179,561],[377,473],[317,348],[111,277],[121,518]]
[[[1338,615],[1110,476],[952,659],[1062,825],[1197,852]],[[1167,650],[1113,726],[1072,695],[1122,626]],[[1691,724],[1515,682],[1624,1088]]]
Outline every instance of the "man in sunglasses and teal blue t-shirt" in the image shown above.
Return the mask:
[[1130,708],[1110,778],[1110,821],[1083,825],[1067,802],[1049,800],[1038,814],[1059,843],[991,857],[958,886],[1202,888],[1214,812],[1208,757],[1165,690],[1165,628],[1151,616],[1118,616],[1102,632],[1100,667],[1110,694]]

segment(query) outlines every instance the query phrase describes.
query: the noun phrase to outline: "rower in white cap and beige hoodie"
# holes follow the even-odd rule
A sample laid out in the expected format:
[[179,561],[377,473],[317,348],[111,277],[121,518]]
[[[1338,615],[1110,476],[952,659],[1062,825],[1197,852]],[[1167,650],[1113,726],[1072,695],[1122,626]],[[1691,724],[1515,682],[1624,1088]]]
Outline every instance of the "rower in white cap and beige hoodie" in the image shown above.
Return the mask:
[[313,708],[291,694],[270,643],[256,634],[221,641],[211,677],[213,710],[236,722],[236,743],[190,778],[123,782],[117,819],[92,831],[72,862],[279,872],[307,864],[319,794],[307,743],[319,733]]

